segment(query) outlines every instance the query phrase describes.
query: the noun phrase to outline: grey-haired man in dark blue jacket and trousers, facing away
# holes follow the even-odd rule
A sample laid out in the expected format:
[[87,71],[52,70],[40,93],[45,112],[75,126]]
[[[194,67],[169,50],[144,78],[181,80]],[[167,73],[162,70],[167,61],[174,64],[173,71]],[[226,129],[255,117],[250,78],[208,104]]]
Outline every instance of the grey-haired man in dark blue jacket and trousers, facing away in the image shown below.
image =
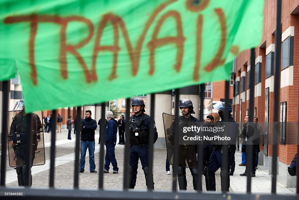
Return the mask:
[[115,145],[116,145],[116,135],[117,135],[117,121],[113,118],[113,112],[107,111],[106,117],[108,123],[106,125],[105,133],[105,144],[106,144],[106,156],[105,156],[105,165],[104,173],[109,173],[109,165],[112,163],[113,174],[118,174],[118,167],[115,158]]

